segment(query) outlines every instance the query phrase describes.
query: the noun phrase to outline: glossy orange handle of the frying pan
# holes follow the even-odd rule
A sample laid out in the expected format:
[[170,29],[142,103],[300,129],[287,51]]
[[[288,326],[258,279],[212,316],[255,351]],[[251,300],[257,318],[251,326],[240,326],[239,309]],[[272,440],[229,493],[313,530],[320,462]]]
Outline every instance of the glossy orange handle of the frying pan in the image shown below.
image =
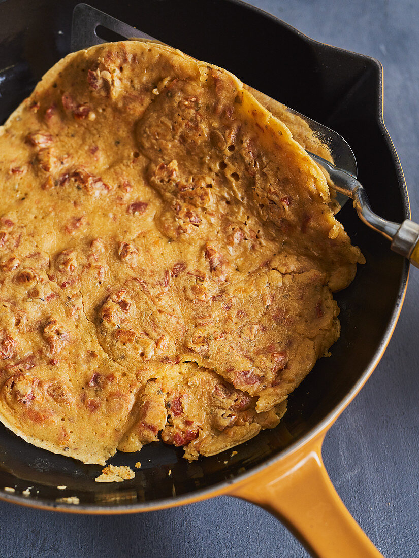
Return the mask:
[[271,465],[234,487],[232,496],[272,513],[312,556],[383,558],[347,511],[328,477],[321,456],[324,436],[294,452],[283,465]]

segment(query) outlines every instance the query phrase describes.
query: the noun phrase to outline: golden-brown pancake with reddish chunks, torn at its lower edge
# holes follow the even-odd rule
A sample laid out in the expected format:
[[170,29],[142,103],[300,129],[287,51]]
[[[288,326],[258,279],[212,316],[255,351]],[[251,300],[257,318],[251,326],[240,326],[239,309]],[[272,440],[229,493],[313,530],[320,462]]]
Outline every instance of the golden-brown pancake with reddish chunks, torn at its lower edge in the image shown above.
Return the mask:
[[0,128],[0,195],[0,420],[84,463],[275,427],[363,262],[289,128],[154,43],[49,70]]

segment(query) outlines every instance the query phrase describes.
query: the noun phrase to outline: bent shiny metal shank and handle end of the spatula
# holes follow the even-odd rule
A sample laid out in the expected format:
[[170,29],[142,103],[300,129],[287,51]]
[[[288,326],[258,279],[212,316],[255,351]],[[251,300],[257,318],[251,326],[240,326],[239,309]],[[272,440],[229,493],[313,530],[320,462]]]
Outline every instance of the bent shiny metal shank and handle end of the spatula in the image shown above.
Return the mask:
[[364,186],[350,174],[342,169],[338,169],[322,157],[308,152],[313,161],[325,169],[333,184],[330,184],[339,194],[343,194],[353,200],[354,208],[359,218],[368,227],[381,233],[383,237],[391,240],[393,252],[408,258],[410,262],[419,267],[419,224],[405,219],[402,224],[393,223],[387,219],[379,217],[371,209],[368,196]]

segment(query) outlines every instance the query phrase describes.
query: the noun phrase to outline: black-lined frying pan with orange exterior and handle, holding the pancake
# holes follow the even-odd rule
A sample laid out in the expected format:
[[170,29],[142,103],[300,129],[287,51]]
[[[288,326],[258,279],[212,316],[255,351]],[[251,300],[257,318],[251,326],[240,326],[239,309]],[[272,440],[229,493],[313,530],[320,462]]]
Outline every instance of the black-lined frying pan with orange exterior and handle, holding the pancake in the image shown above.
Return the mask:
[[[70,50],[75,3],[0,1],[1,122]],[[231,70],[245,83],[336,129],[354,150],[374,210],[397,222],[410,217],[402,169],[383,123],[379,62],[308,39],[235,0],[89,3]],[[408,264],[359,221],[349,204],[339,219],[366,264],[350,287],[336,295],[342,333],[332,356],[320,359],[289,397],[276,429],[239,446],[234,456],[229,450],[193,463],[182,458],[182,449],[158,442],[146,445],[140,456],[118,453],[110,463],[130,465],[135,479],[104,485],[93,482],[99,466],[47,453],[0,426],[0,487],[16,488],[14,493],[0,488],[0,498],[68,512],[126,513],[230,494],[276,514],[315,555],[379,556],[332,487],[321,445],[388,344],[401,310]],[[136,470],[139,458],[142,467]],[[70,496],[79,504],[56,501]]]

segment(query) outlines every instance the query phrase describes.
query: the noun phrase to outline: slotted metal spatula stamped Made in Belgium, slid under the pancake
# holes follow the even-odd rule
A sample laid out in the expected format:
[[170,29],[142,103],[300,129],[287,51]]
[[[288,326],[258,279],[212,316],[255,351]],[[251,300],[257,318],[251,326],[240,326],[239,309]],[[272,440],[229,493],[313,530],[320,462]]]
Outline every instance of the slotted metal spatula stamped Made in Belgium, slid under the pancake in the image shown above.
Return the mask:
[[[88,4],[80,3],[75,6],[71,40],[73,52],[103,42],[126,39],[161,42]],[[331,153],[335,165],[308,151],[312,159],[328,172],[333,181],[332,187],[337,192],[336,200],[340,206],[344,205],[349,198],[352,199],[360,219],[368,227],[391,240],[391,249],[394,252],[410,259],[413,265],[419,267],[419,225],[410,219],[404,220],[402,224],[393,223],[375,214],[370,208],[364,187],[356,180],[358,169],[355,156],[344,138],[304,114],[289,107],[287,109],[302,118],[310,127],[313,137],[320,140]]]

